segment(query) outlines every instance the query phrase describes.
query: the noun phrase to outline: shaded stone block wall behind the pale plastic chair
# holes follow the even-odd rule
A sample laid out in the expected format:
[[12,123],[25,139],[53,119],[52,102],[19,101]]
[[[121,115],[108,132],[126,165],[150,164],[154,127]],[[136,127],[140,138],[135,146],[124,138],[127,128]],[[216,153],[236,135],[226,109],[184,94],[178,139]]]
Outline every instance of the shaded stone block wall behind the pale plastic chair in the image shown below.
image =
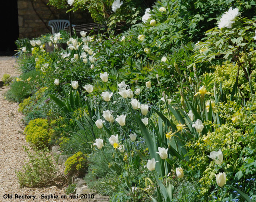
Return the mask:
[[[64,10],[47,6],[48,0],[18,0],[19,37],[34,38],[52,32],[49,20],[68,20]],[[72,13],[72,24],[92,22],[88,12]]]

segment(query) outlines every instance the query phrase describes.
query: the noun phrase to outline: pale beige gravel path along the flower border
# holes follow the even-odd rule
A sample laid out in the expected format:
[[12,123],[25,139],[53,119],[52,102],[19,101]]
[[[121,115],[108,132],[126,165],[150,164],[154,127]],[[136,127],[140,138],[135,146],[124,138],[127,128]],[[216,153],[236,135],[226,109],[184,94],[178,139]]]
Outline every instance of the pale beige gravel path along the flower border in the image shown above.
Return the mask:
[[[0,81],[4,73],[12,76],[19,74],[14,64],[14,57],[0,57]],[[20,188],[15,171],[22,170],[24,161],[27,160],[23,146],[28,146],[28,143],[23,135],[24,125],[21,122],[23,115],[18,113],[18,104],[10,103],[3,97],[7,89],[7,87],[0,87],[0,202],[80,202],[78,199],[41,199],[42,194],[55,194],[60,198],[61,195],[65,195],[66,187]],[[9,196],[12,194],[12,198],[4,198],[5,194]],[[35,198],[38,199],[15,199],[15,194],[36,195]]]

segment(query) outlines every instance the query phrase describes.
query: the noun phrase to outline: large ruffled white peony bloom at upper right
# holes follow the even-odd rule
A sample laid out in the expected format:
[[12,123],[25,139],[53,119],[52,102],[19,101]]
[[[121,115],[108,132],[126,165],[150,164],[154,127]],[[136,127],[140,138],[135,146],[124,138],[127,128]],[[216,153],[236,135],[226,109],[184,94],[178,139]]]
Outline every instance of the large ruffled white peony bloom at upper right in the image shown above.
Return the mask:
[[240,16],[238,8],[232,9],[232,7],[230,7],[228,11],[221,16],[218,28],[232,28],[232,24],[235,22],[234,20],[237,16]]

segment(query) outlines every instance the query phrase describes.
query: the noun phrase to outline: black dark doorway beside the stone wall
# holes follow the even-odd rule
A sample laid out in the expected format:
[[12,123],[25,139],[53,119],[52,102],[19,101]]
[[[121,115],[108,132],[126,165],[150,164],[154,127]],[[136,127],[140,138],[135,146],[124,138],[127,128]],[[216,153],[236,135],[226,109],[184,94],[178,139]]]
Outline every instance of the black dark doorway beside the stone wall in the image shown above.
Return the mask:
[[0,55],[13,55],[19,37],[18,0],[1,1]]

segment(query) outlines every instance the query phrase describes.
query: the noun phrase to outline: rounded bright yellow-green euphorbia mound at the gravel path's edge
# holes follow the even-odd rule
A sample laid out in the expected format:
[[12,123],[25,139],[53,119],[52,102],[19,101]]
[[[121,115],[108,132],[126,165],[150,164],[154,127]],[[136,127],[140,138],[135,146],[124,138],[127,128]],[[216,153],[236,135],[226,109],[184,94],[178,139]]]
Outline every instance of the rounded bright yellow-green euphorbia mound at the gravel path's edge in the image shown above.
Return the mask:
[[47,145],[52,135],[47,119],[34,119],[30,121],[24,129],[24,134],[26,134],[26,141],[36,147]]

